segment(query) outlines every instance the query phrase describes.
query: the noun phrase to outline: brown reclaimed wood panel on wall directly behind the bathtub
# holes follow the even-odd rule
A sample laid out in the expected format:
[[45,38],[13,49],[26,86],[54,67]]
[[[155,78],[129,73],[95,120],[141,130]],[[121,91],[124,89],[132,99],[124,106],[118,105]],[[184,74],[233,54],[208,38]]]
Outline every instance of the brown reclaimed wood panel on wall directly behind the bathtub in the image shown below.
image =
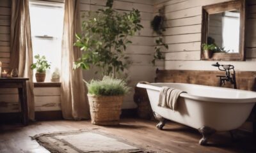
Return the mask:
[[[216,75],[225,75],[223,71],[193,70],[157,70],[156,82],[176,82],[219,86],[220,79]],[[237,89],[256,91],[256,71],[236,71]],[[226,84],[225,87],[232,87]]]

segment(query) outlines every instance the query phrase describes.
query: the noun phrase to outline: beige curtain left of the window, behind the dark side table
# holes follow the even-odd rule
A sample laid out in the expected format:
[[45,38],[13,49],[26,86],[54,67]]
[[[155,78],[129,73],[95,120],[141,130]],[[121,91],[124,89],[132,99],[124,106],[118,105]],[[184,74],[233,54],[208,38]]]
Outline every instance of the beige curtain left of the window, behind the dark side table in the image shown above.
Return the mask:
[[29,0],[12,0],[11,21],[11,61],[10,68],[17,68],[19,77],[29,78],[28,87],[28,115],[35,119],[33,71],[30,65],[33,62]]

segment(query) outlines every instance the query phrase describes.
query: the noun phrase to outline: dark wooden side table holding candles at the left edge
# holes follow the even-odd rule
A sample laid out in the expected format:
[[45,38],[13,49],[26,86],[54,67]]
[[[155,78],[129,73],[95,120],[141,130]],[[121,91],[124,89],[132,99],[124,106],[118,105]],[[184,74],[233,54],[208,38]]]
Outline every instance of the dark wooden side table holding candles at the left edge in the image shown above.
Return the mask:
[[0,88],[17,88],[22,114],[22,123],[28,125],[28,98],[27,84],[29,78],[0,78]]

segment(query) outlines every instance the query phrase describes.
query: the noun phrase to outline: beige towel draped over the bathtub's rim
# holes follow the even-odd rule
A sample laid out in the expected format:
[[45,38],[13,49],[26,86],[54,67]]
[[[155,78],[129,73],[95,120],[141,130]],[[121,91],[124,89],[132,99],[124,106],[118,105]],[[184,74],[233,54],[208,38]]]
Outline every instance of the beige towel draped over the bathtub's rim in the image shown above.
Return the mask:
[[175,110],[177,106],[177,99],[182,92],[184,91],[170,87],[162,87],[159,95],[158,106]]

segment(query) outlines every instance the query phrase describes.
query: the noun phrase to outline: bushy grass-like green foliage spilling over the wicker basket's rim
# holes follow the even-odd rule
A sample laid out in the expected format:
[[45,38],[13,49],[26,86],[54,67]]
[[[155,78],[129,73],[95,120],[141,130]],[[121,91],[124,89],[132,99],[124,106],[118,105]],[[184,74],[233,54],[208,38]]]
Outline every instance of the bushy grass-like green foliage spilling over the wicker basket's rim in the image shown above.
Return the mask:
[[102,80],[91,80],[90,83],[86,82],[88,93],[97,96],[121,96],[129,92],[129,87],[124,80],[103,77]]

